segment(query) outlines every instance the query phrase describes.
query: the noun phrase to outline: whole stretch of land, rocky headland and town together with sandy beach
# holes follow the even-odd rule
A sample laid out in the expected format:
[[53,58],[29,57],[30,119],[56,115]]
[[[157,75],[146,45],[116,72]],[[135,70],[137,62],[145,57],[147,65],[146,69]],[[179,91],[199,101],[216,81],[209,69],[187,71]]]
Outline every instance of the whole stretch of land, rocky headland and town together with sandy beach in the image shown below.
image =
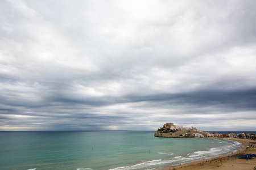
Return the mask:
[[174,123],[166,123],[163,128],[155,131],[155,137],[162,138],[213,138],[225,139],[230,141],[237,141],[243,143],[241,150],[237,150],[228,155],[218,156],[212,159],[203,159],[198,162],[191,162],[185,164],[174,165],[172,167],[164,168],[163,170],[171,169],[256,169],[255,159],[255,134],[250,133],[210,133],[203,130],[198,130],[195,127],[187,128],[184,126],[176,126]]

